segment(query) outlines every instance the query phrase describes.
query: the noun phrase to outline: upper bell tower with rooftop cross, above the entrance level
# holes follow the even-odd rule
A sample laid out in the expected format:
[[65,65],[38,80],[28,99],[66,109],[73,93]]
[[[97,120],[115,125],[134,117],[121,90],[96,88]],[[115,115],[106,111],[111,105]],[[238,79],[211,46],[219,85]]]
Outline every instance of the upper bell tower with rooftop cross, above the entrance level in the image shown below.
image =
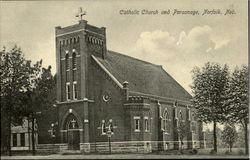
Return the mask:
[[79,23],[55,28],[57,101],[73,101],[88,98],[88,64],[91,55],[105,59],[106,28],[89,25],[77,14]]

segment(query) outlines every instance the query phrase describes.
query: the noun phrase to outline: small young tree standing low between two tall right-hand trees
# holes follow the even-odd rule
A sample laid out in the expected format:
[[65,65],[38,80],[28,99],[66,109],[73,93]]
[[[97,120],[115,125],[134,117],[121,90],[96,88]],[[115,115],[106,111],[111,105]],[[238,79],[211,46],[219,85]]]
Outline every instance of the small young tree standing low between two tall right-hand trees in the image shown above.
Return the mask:
[[232,152],[233,145],[236,143],[238,139],[238,134],[234,125],[225,125],[224,130],[222,131],[222,142],[228,144],[229,151]]

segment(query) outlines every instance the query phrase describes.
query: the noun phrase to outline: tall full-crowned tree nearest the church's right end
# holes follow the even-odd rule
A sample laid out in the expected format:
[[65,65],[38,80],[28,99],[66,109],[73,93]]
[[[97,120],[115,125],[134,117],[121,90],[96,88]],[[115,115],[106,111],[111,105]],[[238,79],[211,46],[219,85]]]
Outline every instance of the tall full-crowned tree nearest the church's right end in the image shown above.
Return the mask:
[[214,151],[217,152],[217,123],[226,120],[226,92],[229,86],[228,66],[221,67],[216,63],[206,63],[201,69],[192,70],[191,85],[192,103],[197,111],[198,119],[205,123],[213,122]]

